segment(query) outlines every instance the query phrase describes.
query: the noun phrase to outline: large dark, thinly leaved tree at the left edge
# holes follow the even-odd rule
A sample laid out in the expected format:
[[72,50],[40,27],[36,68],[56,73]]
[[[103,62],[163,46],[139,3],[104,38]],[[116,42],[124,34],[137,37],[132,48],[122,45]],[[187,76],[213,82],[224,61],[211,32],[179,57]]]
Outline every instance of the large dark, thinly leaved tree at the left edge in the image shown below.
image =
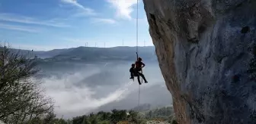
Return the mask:
[[0,46],[0,119],[5,123],[24,123],[39,119],[53,108],[53,102],[40,90],[36,59]]

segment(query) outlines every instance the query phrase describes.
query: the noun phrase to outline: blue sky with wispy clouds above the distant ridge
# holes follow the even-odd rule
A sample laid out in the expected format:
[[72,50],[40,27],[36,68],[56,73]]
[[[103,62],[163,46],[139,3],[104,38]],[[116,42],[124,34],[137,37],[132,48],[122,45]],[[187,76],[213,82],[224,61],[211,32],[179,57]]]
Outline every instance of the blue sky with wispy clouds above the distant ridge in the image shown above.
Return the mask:
[[[136,45],[136,0],[0,0],[0,39],[13,48]],[[122,42],[123,40],[123,42]],[[139,45],[152,45],[139,0]]]

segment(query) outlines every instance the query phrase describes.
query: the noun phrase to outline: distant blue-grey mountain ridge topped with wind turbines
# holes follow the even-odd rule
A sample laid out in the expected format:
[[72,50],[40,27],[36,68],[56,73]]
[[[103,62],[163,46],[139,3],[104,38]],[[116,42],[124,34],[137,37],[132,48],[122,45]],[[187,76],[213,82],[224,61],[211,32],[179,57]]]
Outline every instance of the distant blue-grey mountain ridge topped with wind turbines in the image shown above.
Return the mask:
[[[12,49],[12,51],[19,51]],[[20,50],[21,54],[27,54],[30,57],[37,56],[45,60],[134,60],[136,59],[136,47],[118,46],[114,48],[93,48],[93,47],[78,47],[54,49],[51,51],[29,51]],[[146,46],[138,47],[139,57],[144,60],[156,60],[155,47]],[[30,54],[28,54],[30,53]]]

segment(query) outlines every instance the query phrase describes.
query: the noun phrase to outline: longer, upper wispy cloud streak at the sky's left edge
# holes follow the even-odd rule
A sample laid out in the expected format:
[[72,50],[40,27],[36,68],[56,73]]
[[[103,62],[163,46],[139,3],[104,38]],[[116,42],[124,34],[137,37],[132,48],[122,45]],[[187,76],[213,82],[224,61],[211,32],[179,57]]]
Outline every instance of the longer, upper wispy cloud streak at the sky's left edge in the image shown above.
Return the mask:
[[56,26],[56,27],[66,27],[68,25],[64,23],[59,23],[56,19],[53,20],[37,20],[33,17],[24,17],[17,14],[0,14],[0,20],[16,22],[16,23],[28,23],[37,24],[43,26]]

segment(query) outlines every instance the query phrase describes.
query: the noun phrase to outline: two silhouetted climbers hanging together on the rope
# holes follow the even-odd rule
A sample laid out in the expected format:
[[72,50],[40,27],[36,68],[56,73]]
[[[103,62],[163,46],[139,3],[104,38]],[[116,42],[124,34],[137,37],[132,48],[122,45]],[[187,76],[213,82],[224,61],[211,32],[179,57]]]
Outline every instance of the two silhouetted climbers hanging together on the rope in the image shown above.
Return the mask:
[[139,85],[142,84],[140,82],[139,76],[142,76],[142,79],[144,80],[144,82],[147,83],[147,80],[146,80],[145,76],[142,73],[139,72],[139,71],[142,71],[143,67],[145,67],[145,64],[142,63],[142,58],[139,57],[138,60],[136,60],[136,63],[132,64],[132,67],[130,68],[130,73],[131,73],[130,79],[133,79],[134,76],[137,76]]

